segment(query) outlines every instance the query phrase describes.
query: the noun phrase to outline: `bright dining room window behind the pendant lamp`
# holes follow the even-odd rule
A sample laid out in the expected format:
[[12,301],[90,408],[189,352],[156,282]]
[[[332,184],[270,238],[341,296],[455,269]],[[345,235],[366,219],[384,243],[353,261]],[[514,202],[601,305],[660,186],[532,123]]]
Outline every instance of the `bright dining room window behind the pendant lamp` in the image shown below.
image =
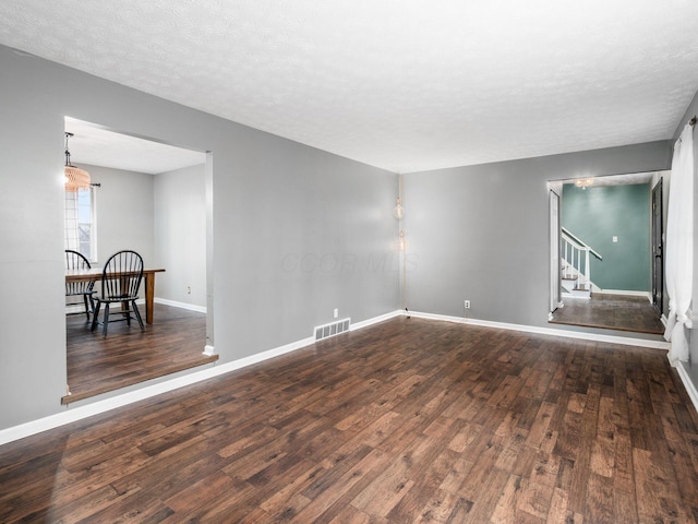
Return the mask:
[[65,249],[79,251],[91,262],[97,260],[97,230],[94,188],[65,191]]

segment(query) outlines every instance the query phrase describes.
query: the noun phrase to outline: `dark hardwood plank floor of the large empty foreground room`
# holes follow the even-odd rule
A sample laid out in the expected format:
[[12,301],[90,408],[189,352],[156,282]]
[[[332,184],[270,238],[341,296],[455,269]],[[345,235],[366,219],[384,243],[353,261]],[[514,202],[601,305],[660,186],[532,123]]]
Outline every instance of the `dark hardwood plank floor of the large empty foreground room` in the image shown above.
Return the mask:
[[0,522],[698,522],[665,352],[399,318],[0,446]]

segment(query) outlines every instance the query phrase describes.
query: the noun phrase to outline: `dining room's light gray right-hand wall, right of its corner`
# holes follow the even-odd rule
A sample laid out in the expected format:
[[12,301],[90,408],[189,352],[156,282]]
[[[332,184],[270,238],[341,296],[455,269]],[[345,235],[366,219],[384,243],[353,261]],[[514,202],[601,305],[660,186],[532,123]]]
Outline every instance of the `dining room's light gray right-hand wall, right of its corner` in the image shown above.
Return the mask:
[[[206,307],[205,164],[156,175],[155,265],[158,298]],[[188,289],[190,293],[188,293]]]

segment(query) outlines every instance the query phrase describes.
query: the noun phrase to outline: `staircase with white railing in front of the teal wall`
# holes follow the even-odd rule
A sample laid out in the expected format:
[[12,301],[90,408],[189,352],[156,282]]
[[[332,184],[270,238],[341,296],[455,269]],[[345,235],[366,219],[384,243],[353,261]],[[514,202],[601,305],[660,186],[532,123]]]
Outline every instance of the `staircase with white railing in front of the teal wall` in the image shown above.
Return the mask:
[[590,257],[603,258],[564,227],[561,239],[563,297],[591,298],[591,293],[600,289],[591,282]]

